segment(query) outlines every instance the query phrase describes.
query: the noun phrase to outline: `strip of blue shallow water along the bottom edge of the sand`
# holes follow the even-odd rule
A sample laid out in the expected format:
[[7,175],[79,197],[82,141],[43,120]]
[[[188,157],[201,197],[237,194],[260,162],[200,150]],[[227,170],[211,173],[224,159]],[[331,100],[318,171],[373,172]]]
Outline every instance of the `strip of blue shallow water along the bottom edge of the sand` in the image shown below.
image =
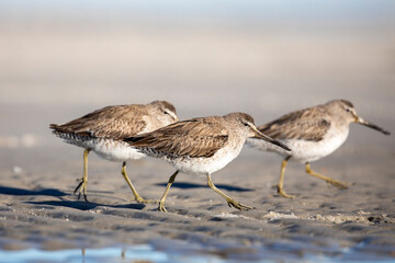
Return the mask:
[[[27,249],[19,251],[0,250],[0,262],[7,263],[93,263],[93,262],[128,262],[128,263],[223,263],[223,262],[343,262],[343,261],[380,261],[394,262],[395,256],[379,251],[360,250],[361,248],[324,251],[285,251],[281,244],[258,250],[252,248],[223,248],[218,250],[191,250],[173,247],[155,248],[139,244],[122,248],[69,249],[45,251]],[[163,250],[165,249],[165,250]],[[379,253],[377,253],[379,252]],[[388,251],[387,251],[388,252]]]

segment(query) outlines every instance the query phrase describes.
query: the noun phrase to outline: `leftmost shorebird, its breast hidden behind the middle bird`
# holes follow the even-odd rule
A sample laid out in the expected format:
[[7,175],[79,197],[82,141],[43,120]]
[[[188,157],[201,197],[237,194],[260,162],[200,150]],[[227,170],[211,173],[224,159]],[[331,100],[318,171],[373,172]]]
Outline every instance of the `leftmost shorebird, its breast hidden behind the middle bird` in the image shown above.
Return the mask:
[[177,122],[176,108],[166,101],[148,104],[106,106],[63,125],[50,124],[53,133],[65,142],[84,148],[83,175],[75,190],[78,199],[83,193],[87,198],[88,155],[92,150],[99,157],[122,162],[121,173],[129,185],[136,202],[148,203],[133,186],[126,173],[126,161],[137,160],[145,155],[131,148],[122,139],[148,133]]

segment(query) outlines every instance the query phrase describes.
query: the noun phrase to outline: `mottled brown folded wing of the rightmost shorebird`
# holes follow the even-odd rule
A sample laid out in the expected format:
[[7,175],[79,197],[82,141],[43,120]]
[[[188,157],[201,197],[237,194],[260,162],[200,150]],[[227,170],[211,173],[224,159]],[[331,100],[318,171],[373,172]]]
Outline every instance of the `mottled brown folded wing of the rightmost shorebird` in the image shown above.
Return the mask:
[[330,127],[330,118],[323,107],[309,107],[286,114],[258,129],[273,139],[319,141]]

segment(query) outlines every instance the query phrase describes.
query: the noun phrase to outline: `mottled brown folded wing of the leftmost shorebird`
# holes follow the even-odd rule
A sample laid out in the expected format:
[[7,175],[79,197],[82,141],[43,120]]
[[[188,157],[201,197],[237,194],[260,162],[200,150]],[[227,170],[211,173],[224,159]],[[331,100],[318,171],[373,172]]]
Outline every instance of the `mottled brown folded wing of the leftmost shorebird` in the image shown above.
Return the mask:
[[63,125],[49,127],[59,133],[101,138],[122,139],[144,130],[147,115],[144,105],[106,106]]

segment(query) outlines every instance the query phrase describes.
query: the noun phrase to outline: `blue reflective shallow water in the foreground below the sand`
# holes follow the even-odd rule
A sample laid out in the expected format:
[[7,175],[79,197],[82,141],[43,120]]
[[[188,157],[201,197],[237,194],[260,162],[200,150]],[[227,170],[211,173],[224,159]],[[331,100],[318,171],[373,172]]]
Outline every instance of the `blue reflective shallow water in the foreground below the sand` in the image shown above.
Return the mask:
[[[68,249],[46,251],[27,249],[19,251],[0,250],[0,262],[394,262],[392,247],[374,247],[361,242],[353,248],[341,248],[336,241],[329,247],[312,244],[311,240],[283,240],[270,245],[235,245],[190,243],[159,239],[151,244],[119,245],[91,249]],[[318,241],[318,240],[317,240]],[[318,242],[319,243],[319,242]]]

